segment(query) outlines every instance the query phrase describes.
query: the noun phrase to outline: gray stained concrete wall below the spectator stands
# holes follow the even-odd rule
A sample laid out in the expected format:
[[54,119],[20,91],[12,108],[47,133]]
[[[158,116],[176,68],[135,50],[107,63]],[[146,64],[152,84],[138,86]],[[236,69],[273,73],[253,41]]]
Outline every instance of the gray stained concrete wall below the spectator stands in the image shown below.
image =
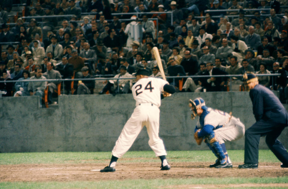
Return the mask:
[[[177,93],[162,100],[160,136],[167,150],[202,150],[196,145],[188,100],[201,96],[206,105],[232,111],[246,129],[254,122],[247,92]],[[58,108],[38,108],[38,97],[0,98],[0,152],[111,151],[135,108],[131,94],[59,96]],[[287,109],[287,106],[285,106]],[[288,147],[287,128],[279,137]],[[244,138],[226,142],[244,149]],[[262,137],[260,148],[267,149]],[[131,150],[150,150],[146,128]]]

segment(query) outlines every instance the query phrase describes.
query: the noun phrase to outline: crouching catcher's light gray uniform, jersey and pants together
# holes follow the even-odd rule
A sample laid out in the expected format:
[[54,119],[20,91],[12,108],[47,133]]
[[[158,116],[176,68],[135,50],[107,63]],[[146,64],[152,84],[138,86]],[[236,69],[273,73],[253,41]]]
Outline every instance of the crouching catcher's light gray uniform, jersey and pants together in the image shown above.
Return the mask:
[[198,119],[197,127],[202,129],[205,125],[212,125],[217,141],[233,141],[244,136],[245,126],[239,118],[231,116],[224,111],[208,108]]

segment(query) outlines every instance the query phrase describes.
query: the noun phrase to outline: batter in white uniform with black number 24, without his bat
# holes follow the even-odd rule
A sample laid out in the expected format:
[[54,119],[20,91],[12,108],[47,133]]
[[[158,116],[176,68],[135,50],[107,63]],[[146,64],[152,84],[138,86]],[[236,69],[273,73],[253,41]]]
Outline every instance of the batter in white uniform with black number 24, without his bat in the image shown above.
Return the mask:
[[116,161],[129,150],[144,126],[147,128],[149,146],[161,159],[161,170],[170,169],[166,160],[167,153],[163,141],[159,138],[159,106],[161,104],[161,92],[165,91],[172,94],[176,90],[173,85],[169,85],[163,79],[148,77],[149,71],[146,69],[139,69],[135,75],[136,83],[132,87],[132,93],[136,101],[136,108],[116,141],[109,166],[101,169],[100,172],[116,170]]

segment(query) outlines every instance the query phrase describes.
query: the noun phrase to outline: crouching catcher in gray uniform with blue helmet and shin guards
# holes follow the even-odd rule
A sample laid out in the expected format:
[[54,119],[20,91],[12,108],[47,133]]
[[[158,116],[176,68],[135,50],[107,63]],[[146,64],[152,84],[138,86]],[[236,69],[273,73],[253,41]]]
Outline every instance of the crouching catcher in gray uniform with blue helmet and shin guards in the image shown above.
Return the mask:
[[198,145],[202,140],[208,145],[217,157],[210,167],[232,168],[232,162],[227,154],[224,141],[233,141],[244,136],[245,126],[239,120],[229,114],[217,109],[208,108],[202,98],[189,100],[191,107],[191,119],[198,115],[199,119],[195,128],[194,138]]

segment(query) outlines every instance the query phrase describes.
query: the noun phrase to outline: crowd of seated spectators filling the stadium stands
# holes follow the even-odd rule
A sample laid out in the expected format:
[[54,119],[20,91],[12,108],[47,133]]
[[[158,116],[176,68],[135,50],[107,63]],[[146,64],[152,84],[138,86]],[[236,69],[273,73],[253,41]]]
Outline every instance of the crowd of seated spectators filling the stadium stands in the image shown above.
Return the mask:
[[[170,79],[177,92],[225,91],[228,82],[242,83],[240,78],[230,81],[213,75],[280,73],[274,78],[259,76],[259,83],[280,91],[285,103],[287,2],[27,1],[23,17],[12,24],[8,15],[14,1],[4,1],[0,3],[0,80],[17,82],[0,83],[0,90],[7,92],[3,96],[43,97],[48,85],[52,103],[58,82],[39,81],[32,87],[21,80],[104,77],[107,84],[99,94],[131,93],[133,80],[121,78],[133,78],[140,68],[148,69],[152,77],[160,76],[152,51],[158,47],[167,76],[211,76]],[[63,94],[93,94],[95,80],[64,85]]]

